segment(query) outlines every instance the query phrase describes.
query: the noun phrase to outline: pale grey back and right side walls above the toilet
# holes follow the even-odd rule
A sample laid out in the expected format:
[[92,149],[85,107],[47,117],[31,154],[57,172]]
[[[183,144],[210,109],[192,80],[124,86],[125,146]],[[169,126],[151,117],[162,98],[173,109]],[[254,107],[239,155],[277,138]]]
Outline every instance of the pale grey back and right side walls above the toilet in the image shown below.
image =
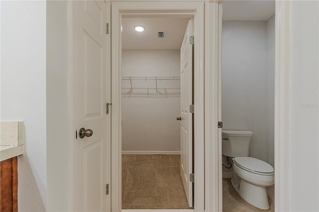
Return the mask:
[[274,138],[269,135],[273,134],[274,123],[269,116],[273,115],[270,107],[274,107],[274,88],[271,88],[274,61],[267,59],[274,48],[268,51],[268,44],[274,45],[271,27],[274,27],[273,19],[268,24],[265,21],[223,22],[222,120],[224,130],[252,131],[250,156],[273,163],[269,156],[274,154]]

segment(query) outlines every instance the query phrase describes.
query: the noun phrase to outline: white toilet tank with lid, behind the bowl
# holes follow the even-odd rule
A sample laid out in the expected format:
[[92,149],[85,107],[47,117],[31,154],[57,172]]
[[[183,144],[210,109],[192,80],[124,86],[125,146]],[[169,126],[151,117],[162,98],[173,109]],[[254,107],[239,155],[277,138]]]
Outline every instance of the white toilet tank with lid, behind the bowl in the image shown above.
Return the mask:
[[222,153],[228,157],[248,157],[251,131],[222,130]]

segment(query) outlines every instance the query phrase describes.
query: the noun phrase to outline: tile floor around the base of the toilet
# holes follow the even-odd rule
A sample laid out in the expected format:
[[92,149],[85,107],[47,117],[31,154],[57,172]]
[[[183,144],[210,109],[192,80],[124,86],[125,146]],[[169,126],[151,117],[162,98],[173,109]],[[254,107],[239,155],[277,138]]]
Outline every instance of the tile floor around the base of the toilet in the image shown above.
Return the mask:
[[[275,186],[267,187],[268,201],[270,209],[267,212],[275,211]],[[257,209],[239,196],[233,188],[230,178],[223,179],[223,212],[264,212],[264,210]]]

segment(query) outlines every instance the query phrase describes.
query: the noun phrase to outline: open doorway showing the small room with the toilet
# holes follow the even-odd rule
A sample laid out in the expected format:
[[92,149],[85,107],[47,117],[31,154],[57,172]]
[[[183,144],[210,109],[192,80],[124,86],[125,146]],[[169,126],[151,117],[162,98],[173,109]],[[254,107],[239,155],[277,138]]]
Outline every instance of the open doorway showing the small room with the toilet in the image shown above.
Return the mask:
[[222,19],[223,211],[274,211],[275,1],[224,1]]

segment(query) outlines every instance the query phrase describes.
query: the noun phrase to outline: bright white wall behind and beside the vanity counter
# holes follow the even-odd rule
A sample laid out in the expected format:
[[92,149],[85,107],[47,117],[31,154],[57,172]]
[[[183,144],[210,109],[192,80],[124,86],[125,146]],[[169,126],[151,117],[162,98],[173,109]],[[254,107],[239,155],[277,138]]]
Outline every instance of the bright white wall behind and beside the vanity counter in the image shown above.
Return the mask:
[[24,122],[18,210],[46,211],[46,1],[1,1],[1,121]]

